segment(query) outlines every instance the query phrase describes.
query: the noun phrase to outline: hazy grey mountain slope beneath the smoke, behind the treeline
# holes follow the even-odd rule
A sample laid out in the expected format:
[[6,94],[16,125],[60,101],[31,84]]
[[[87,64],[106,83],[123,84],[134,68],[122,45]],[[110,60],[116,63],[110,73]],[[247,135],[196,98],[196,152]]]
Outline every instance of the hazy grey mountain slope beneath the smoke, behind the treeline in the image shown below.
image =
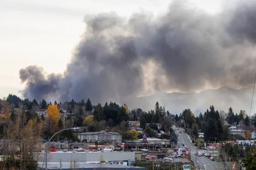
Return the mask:
[[[185,108],[190,108],[198,115],[200,112],[206,111],[210,105],[214,105],[215,110],[218,111],[224,110],[227,112],[232,107],[234,113],[245,110],[249,114],[252,93],[253,86],[241,89],[221,87],[215,90],[188,94],[159,92],[151,96],[138,97],[124,102],[128,104],[129,108],[141,108],[144,111],[154,109],[154,105],[158,101],[170,113],[181,113]],[[251,115],[256,112],[256,94],[254,95]]]

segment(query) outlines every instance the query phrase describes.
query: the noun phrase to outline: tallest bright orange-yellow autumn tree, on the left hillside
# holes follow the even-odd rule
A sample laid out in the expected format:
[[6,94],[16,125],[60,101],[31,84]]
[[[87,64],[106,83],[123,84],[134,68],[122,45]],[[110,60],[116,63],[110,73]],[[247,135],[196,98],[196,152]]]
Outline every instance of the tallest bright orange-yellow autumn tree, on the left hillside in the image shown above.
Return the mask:
[[58,121],[61,117],[61,115],[58,112],[57,105],[49,105],[46,110],[47,115],[45,116],[47,119],[47,122],[50,125],[50,129],[57,130],[58,128]]

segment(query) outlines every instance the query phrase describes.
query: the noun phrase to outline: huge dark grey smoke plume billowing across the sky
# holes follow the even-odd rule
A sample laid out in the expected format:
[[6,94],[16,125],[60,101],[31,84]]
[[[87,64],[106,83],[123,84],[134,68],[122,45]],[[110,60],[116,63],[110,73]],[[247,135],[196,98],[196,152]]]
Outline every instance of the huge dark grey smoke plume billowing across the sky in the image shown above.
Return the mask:
[[59,101],[120,101],[157,91],[252,85],[256,71],[256,1],[218,14],[174,1],[166,14],[128,20],[115,13],[84,17],[86,31],[63,75],[36,65],[20,70],[23,96]]

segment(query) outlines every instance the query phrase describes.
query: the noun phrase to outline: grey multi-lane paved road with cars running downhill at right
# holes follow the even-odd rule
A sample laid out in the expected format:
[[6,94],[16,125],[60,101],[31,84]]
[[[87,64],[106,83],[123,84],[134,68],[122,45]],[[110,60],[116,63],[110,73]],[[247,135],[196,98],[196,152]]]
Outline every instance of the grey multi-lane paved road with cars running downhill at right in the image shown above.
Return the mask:
[[[177,128],[173,128],[174,130]],[[186,147],[190,147],[190,155],[191,155],[191,160],[194,161],[194,163],[196,163],[196,159],[197,161],[199,161],[199,163],[202,166],[207,165],[207,170],[215,170],[215,167],[218,167],[218,170],[220,170],[220,167],[222,167],[222,170],[224,170],[224,166],[220,165],[218,162],[216,161],[211,161],[209,158],[207,158],[206,156],[201,156],[196,158],[195,153],[197,151],[197,149],[194,147],[194,145],[191,144],[189,137],[186,133],[184,133],[184,130],[182,128],[179,128],[180,130],[175,130],[175,132],[177,131],[181,131],[182,133],[177,133],[178,134],[178,142],[180,142],[180,146],[182,146],[182,142],[184,142],[186,144]],[[204,152],[204,151],[203,151]],[[197,168],[198,168],[198,164],[197,164]]]

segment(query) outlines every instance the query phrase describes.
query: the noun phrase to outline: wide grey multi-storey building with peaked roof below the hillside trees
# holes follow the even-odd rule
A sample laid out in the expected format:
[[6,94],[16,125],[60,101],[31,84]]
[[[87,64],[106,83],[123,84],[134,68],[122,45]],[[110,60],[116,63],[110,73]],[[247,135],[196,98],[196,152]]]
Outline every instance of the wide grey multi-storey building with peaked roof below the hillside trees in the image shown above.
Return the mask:
[[77,138],[80,139],[80,141],[83,141],[84,139],[87,140],[87,142],[110,142],[115,145],[122,144],[122,135],[116,132],[107,132],[105,130],[99,131],[99,132],[85,132],[85,133],[78,133]]

